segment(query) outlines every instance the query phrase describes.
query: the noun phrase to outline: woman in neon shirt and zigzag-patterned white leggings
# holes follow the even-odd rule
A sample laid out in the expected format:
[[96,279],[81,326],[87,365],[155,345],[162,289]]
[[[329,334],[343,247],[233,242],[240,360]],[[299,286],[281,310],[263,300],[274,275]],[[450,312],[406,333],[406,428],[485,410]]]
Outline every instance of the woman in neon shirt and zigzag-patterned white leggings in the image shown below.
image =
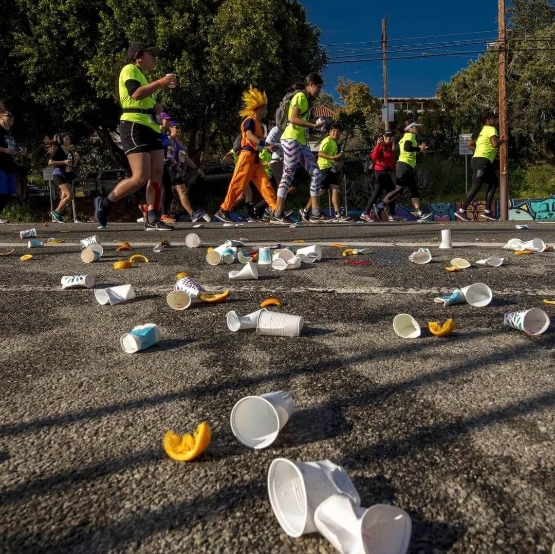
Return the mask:
[[[284,223],[286,218],[283,214],[285,198],[295,178],[297,163],[301,162],[310,174],[310,198],[311,214],[309,221],[312,223],[328,222],[331,218],[324,216],[320,211],[320,181],[322,173],[314,154],[307,146],[307,129],[319,129],[324,126],[324,119],[317,123],[310,123],[310,99],[316,98],[321,91],[324,81],[317,73],[309,73],[302,84],[297,83],[290,88],[290,92],[298,91],[290,99],[287,107],[287,121],[281,135],[281,146],[284,152],[284,169],[278,187],[278,205],[274,211],[271,221]],[[276,117],[276,120],[278,118]],[[277,122],[277,121],[276,121]]]

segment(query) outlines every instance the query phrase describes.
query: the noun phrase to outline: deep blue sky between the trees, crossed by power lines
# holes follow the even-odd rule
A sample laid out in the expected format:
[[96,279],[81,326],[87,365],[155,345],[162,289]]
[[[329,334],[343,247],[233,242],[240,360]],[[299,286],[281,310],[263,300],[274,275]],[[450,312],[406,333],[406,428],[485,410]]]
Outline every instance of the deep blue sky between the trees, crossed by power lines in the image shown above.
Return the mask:
[[[493,31],[490,34],[476,34],[461,37],[422,39],[415,43],[434,41],[478,40],[495,37],[497,32],[497,2],[467,0],[466,2],[362,2],[346,0],[300,0],[307,11],[311,23],[318,25],[322,31],[320,43],[346,43],[356,41],[376,41],[381,39],[381,19],[387,12],[387,34],[394,38],[422,37],[436,34],[469,33],[474,31]],[[390,42],[389,46],[409,45],[410,42]],[[328,52],[347,48],[379,47],[375,44],[354,44],[328,48]],[[419,47],[421,51],[438,52],[440,49]],[[483,44],[468,44],[460,50],[477,50]],[[351,52],[338,52],[344,56]],[[354,52],[356,54],[364,52]],[[414,53],[420,53],[414,52]],[[406,56],[397,54],[398,56]],[[331,54],[330,54],[331,55]],[[390,54],[394,56],[395,54]],[[388,96],[434,96],[436,84],[446,80],[459,69],[467,67],[468,60],[478,54],[444,56],[435,58],[413,58],[390,61],[388,68]],[[376,58],[379,54],[369,54]],[[344,58],[345,59],[345,58]],[[348,58],[347,58],[348,59]],[[334,94],[337,77],[343,76],[355,82],[364,82],[370,86],[372,94],[381,96],[382,64],[380,62],[345,63],[330,65],[324,71],[326,84],[324,90]]]

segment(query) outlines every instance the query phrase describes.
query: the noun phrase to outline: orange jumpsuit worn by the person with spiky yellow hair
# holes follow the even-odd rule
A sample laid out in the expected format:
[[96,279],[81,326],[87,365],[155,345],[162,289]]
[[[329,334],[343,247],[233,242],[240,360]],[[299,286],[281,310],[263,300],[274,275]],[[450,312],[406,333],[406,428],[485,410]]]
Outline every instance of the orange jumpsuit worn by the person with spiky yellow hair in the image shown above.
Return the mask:
[[271,211],[275,211],[278,198],[274,192],[274,187],[266,176],[264,166],[260,163],[256,144],[249,141],[246,136],[247,129],[250,129],[256,137],[262,138],[264,136],[262,126],[256,117],[248,117],[241,123],[241,135],[243,137],[241,139],[241,152],[229,183],[228,194],[220,208],[225,212],[230,212],[237,199],[243,194],[247,184],[252,181],[270,206]]

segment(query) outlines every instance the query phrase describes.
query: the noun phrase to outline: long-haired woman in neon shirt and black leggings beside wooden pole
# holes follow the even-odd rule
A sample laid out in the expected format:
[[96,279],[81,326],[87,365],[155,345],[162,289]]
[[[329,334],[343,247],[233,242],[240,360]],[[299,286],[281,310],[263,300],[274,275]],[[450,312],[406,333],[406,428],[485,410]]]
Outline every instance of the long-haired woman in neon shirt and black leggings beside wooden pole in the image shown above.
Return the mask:
[[493,167],[493,161],[497,156],[497,149],[501,144],[507,142],[507,137],[503,137],[499,140],[497,129],[495,128],[495,119],[495,114],[490,109],[484,109],[482,113],[478,115],[474,132],[470,137],[470,141],[467,142],[468,148],[474,152],[470,161],[470,167],[472,168],[472,187],[470,191],[468,191],[461,207],[455,212],[455,216],[462,219],[462,221],[472,221],[472,219],[466,215],[466,208],[468,208],[468,204],[472,202],[480,188],[482,188],[484,182],[487,183],[487,209],[478,217],[491,219],[492,221],[496,220],[492,214],[493,196],[497,188],[497,175],[495,173],[495,167]]

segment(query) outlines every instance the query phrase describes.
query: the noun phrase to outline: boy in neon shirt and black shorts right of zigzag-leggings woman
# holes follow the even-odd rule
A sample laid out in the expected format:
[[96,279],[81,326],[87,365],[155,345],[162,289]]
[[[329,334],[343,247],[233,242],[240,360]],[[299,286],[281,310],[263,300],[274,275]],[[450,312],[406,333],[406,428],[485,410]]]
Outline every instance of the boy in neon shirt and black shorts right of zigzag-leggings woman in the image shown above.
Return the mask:
[[[337,153],[339,146],[337,146],[337,139],[341,134],[341,126],[339,123],[334,123],[330,127],[328,136],[320,143],[320,151],[318,152],[318,167],[322,172],[322,182],[320,185],[320,196],[325,189],[331,191],[331,202],[334,204],[335,217],[332,218],[333,222],[351,221],[348,216],[341,215],[339,207],[339,169],[340,166],[335,162],[341,159],[342,152]],[[308,201],[305,208],[299,210],[302,221],[309,221],[309,212],[312,206],[312,198]]]

